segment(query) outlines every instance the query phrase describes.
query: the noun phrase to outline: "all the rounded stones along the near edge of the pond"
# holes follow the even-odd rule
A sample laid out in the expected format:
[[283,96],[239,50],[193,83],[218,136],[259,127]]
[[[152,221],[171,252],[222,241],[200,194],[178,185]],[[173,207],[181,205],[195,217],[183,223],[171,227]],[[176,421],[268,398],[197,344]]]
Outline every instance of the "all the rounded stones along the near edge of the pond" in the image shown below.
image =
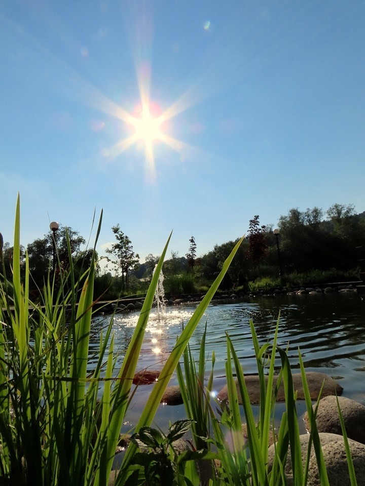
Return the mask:
[[[151,384],[159,377],[159,371],[148,370],[145,373],[139,372],[135,375],[133,382],[138,385]],[[302,384],[302,377],[300,373],[295,373],[293,376],[294,389],[297,391],[297,399],[304,399],[304,391]],[[276,377],[277,378],[277,377]],[[354,471],[357,478],[358,485],[365,484],[365,406],[354,400],[340,396],[343,388],[333,378],[318,372],[307,372],[306,379],[312,400],[318,398],[321,392],[321,399],[318,404],[318,411],[316,416],[316,425],[319,432],[319,439],[322,446],[322,453],[326,465],[327,476],[331,486],[350,485],[348,464],[345,452],[344,439],[342,437],[342,429],[340,424],[340,417],[338,412],[338,405],[341,410],[341,415],[344,421],[346,434],[348,437],[349,448],[354,465]],[[245,383],[250,398],[251,404],[257,404],[260,397],[260,382],[258,375],[251,375],[245,377]],[[242,399],[239,393],[237,384],[237,392],[239,402]],[[323,387],[322,387],[323,385]],[[273,384],[275,386],[275,382]],[[277,394],[277,402],[284,401],[284,393],[279,387]],[[228,400],[227,386],[217,394],[217,398],[222,402]],[[182,403],[182,396],[178,386],[170,386],[166,389],[165,394],[161,400],[165,405],[177,405]],[[314,406],[313,406],[314,407]],[[308,413],[303,417],[306,429],[310,432],[310,423]],[[247,433],[245,424],[242,424],[242,433]],[[276,431],[272,434],[271,445],[269,447],[269,462],[270,470],[273,464],[275,455],[275,440]],[[307,458],[308,453],[309,433],[300,436],[301,450],[303,464]],[[293,473],[291,471],[290,454],[288,454],[284,474],[288,484],[291,484]],[[314,450],[312,448],[309,459],[309,475],[308,486],[318,486],[318,466],[315,458]],[[208,478],[207,478],[208,479]],[[203,481],[202,481],[203,483]]]

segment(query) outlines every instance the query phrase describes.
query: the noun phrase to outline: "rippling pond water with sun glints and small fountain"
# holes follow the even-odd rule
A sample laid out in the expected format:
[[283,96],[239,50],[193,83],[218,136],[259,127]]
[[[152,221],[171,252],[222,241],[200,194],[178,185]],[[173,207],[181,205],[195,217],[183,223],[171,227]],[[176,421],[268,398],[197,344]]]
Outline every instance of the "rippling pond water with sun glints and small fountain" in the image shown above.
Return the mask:
[[[196,305],[167,308],[164,318],[158,318],[152,313],[138,370],[162,369],[177,336],[181,333],[183,323],[187,323],[195,308]],[[249,320],[253,320],[262,345],[271,342],[279,314],[278,345],[284,348],[288,346],[292,369],[299,368],[299,347],[307,371],[318,371],[332,376],[343,387],[343,396],[365,404],[365,302],[356,293],[287,295],[211,303],[190,340],[190,346],[193,355],[198,359],[206,325],[207,374],[211,370],[211,354],[215,352],[214,389],[218,392],[226,384],[226,332],[234,343],[244,373],[255,374],[257,369]],[[109,319],[109,316],[103,316],[94,321],[95,335],[92,342],[96,349],[99,343],[98,330]],[[121,365],[137,319],[138,313],[114,317],[117,368]],[[92,367],[92,362],[90,366]],[[170,385],[176,384],[174,374]],[[129,431],[135,425],[152,386],[137,387],[124,431]],[[304,411],[304,403],[298,402],[298,414]],[[161,404],[155,425],[166,429],[169,420],[173,422],[181,418],[185,418],[184,406]]]

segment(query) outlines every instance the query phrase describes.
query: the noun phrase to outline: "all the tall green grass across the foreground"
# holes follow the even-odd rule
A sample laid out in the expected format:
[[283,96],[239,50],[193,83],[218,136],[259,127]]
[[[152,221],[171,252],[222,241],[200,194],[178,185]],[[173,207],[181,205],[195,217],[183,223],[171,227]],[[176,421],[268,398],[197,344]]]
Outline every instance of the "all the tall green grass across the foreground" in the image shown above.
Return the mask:
[[[116,367],[113,319],[100,334],[96,362],[91,366],[89,344],[97,262],[93,259],[91,267],[81,272],[80,278],[76,279],[68,245],[69,272],[60,273],[60,281],[50,273],[45,281],[42,302],[32,302],[29,298],[31,275],[27,256],[25,280],[22,281],[20,277],[18,198],[12,275],[5,275],[4,265],[0,272],[0,485],[108,484],[121,425],[128,414],[133,394],[132,379],[170,237],[144,299],[122,366],[120,369]],[[151,464],[146,467],[143,460],[154,460],[156,457],[172,462],[172,466],[169,464],[171,467],[168,467],[168,477],[169,483],[176,486],[198,486],[203,481],[209,486],[281,486],[287,482],[284,468],[289,459],[293,469],[292,483],[304,485],[308,479],[312,448],[318,463],[320,483],[323,486],[329,484],[315,423],[318,402],[313,410],[299,353],[311,423],[309,448],[304,460],[302,457],[296,394],[289,361],[286,352],[277,346],[279,321],[272,344],[265,343],[262,346],[250,322],[260,380],[257,416],[253,413],[244,370],[229,335],[226,362],[228,403],[224,406],[214,402],[211,396],[214,354],[210,357],[211,372],[206,377],[206,332],[198,361],[194,360],[189,349],[189,340],[240,243],[241,240],[178,338],[135,427],[135,437],[152,444],[152,450],[148,454],[142,453],[144,456],[138,456],[141,454],[138,449],[140,442],[131,441],[119,472],[115,475],[116,485],[148,484],[146,474],[164,469],[159,467],[162,465],[155,467]],[[273,378],[278,363],[279,378],[274,387]],[[151,425],[175,369],[191,422],[172,425],[170,432],[164,435],[154,431]],[[276,393],[280,382],[285,391],[285,412],[281,417],[274,446],[274,460],[269,467],[268,447],[270,433],[275,426]],[[242,408],[239,406],[238,394],[243,402]],[[355,472],[342,418],[341,421],[351,484],[355,485]],[[247,440],[242,434],[243,422],[247,425]],[[188,423],[191,423],[193,433],[193,450],[177,455],[173,453],[172,440],[186,430]],[[141,457],[144,459],[140,460]],[[199,460],[198,467],[196,460]],[[204,464],[208,467],[204,467]],[[154,480],[158,483],[156,478]],[[167,486],[168,483],[165,484]]]

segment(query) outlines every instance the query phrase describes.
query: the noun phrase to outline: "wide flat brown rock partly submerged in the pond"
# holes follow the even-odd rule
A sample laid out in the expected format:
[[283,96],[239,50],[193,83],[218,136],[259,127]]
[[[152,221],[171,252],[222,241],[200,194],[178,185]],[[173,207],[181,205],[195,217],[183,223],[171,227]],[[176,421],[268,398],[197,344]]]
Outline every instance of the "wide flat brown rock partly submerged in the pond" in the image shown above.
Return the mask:
[[[267,382],[267,376],[266,382]],[[343,388],[340,386],[333,378],[330,376],[324,375],[323,373],[317,373],[317,372],[308,372],[306,373],[306,378],[307,378],[307,383],[308,383],[308,388],[309,392],[311,395],[312,400],[316,400],[318,398],[322,383],[324,382],[323,385],[323,390],[322,390],[322,396],[327,396],[327,395],[341,395]],[[274,382],[273,382],[273,388],[276,385],[277,381],[277,376],[274,376]],[[245,383],[247,387],[247,392],[248,396],[250,399],[251,404],[258,404],[260,401],[260,381],[259,381],[259,375],[251,375],[251,376],[245,376]],[[293,384],[294,384],[294,390],[298,390],[298,395],[297,398],[299,400],[304,400],[304,390],[303,390],[303,383],[302,383],[302,376],[300,373],[295,373],[293,374]],[[236,380],[236,385],[237,385],[237,395],[238,395],[238,402],[242,404],[242,398],[241,394],[239,391],[238,387],[238,382]],[[228,401],[228,389],[227,385],[222,388],[222,390],[218,393],[217,395],[218,400],[221,401]],[[284,386],[281,381],[278,393],[276,396],[276,401],[285,401],[285,394],[284,394]]]

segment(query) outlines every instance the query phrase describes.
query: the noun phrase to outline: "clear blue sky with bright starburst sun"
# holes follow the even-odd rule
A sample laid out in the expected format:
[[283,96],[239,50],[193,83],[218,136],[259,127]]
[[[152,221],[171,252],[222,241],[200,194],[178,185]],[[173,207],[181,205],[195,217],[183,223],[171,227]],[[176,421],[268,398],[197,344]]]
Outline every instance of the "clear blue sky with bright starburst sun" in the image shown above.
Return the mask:
[[[141,261],[291,208],[365,210],[365,3],[0,0],[0,231]],[[95,233],[95,227],[92,234]]]

